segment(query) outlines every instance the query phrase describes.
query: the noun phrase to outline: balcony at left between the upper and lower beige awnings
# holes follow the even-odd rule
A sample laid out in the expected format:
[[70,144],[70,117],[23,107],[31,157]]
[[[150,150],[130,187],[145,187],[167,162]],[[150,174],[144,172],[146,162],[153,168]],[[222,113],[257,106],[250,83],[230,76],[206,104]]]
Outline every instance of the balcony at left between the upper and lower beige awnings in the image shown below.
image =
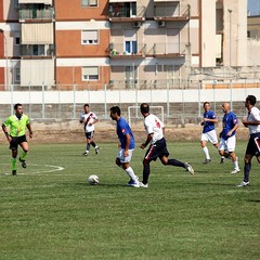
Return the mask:
[[22,44],[21,57],[23,58],[50,58],[55,55],[54,44]]

